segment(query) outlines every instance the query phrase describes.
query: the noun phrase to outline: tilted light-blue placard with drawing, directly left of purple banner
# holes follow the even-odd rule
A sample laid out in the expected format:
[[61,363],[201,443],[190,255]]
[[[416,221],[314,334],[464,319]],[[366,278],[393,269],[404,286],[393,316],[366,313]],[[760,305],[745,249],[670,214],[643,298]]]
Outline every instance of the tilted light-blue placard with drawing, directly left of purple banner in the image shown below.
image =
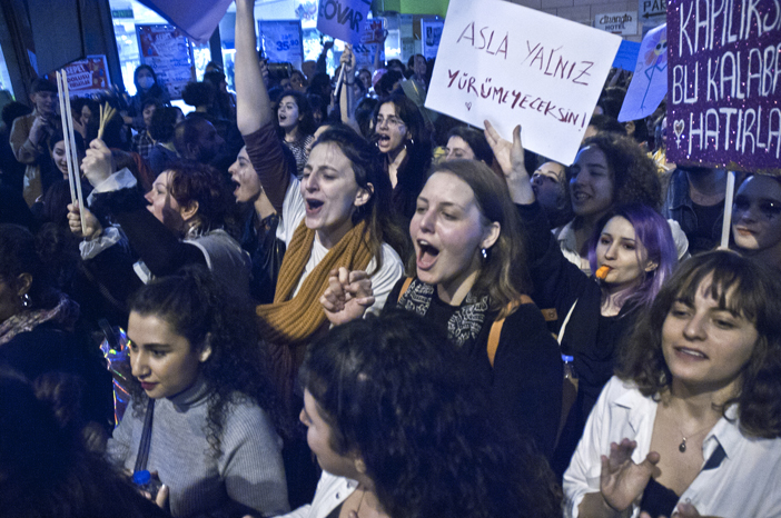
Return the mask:
[[644,119],[668,93],[668,26],[649,31],[640,43],[637,63],[626,89],[619,121]]

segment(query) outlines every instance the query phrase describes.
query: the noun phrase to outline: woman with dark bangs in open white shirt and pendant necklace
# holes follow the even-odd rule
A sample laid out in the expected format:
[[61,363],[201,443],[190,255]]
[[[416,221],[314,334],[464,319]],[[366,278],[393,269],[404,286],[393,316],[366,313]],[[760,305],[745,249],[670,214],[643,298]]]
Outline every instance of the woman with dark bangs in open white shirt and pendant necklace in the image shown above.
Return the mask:
[[733,252],[681,265],[589,418],[566,516],[781,514],[779,292]]

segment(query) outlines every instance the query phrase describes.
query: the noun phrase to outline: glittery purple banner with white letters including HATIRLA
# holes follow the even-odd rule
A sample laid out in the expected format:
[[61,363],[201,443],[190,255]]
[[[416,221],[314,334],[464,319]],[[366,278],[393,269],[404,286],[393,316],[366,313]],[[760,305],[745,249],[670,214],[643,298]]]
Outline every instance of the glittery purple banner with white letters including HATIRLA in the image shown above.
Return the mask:
[[781,173],[781,4],[668,2],[668,160]]

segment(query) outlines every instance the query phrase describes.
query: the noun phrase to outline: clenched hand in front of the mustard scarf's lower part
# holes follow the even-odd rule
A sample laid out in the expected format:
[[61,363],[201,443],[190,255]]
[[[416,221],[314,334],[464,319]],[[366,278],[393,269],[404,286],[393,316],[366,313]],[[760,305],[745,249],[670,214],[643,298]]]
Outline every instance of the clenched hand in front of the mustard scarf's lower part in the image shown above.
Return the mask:
[[328,288],[320,297],[320,305],[330,323],[339,326],[362,318],[373,303],[374,291],[368,273],[348,271],[344,267],[330,271]]

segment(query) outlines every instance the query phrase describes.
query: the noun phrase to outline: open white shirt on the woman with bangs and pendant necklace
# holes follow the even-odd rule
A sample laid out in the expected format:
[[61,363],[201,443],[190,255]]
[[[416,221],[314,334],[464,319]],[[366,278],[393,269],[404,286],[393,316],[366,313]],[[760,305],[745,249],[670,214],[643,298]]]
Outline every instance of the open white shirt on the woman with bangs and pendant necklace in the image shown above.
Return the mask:
[[[600,456],[610,454],[611,442],[621,442],[623,438],[635,440],[637,447],[632,460],[640,464],[645,459],[656,407],[656,401],[640,394],[633,383],[616,377],[607,382],[564,474],[565,516],[576,517],[583,496],[599,492]],[[735,407],[730,407],[726,414],[733,422],[722,417],[702,442],[703,467],[719,449],[723,449],[725,457],[716,467],[701,470],[678,505],[691,504],[702,516],[781,517],[781,439],[748,438],[738,426]],[[637,504],[624,516],[640,516]]]

